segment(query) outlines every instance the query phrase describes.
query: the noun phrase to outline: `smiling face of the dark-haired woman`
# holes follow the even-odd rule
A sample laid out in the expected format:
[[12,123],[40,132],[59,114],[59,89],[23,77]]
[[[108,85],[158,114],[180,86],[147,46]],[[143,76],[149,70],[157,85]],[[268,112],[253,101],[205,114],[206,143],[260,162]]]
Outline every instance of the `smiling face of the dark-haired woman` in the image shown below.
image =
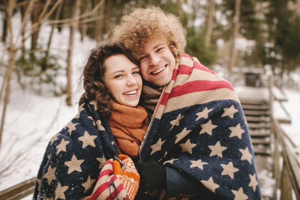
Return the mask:
[[135,107],[141,93],[139,68],[124,54],[112,55],[104,61],[104,84],[121,105]]

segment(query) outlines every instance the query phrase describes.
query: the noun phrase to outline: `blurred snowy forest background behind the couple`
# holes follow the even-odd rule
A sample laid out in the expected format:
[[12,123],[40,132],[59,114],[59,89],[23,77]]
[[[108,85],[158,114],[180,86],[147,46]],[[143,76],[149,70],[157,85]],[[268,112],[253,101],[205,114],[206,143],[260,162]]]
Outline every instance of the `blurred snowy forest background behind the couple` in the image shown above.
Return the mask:
[[[234,86],[244,72],[272,71],[280,87],[299,91],[300,0],[0,0],[0,190],[37,173],[49,138],[75,115],[88,50],[109,41],[122,15],[148,4],[178,16],[186,52]],[[51,111],[47,125],[27,121],[18,134],[29,114],[13,109],[27,109],[29,94]],[[33,146],[40,153],[30,157]],[[28,160],[35,165],[24,167]],[[21,167],[23,179],[1,182]]]

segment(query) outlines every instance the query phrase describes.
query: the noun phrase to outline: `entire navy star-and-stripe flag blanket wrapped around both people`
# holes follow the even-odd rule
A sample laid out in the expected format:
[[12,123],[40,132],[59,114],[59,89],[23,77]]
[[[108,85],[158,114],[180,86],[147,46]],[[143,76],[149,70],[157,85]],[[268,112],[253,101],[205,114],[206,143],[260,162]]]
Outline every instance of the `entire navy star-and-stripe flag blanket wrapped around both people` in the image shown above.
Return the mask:
[[[97,102],[82,95],[78,114],[45,150],[33,198],[89,197],[104,163],[118,156]],[[260,199],[254,155],[230,83],[183,54],[158,101],[140,161],[153,157],[215,193],[217,199]],[[203,198],[205,199],[205,198]]]

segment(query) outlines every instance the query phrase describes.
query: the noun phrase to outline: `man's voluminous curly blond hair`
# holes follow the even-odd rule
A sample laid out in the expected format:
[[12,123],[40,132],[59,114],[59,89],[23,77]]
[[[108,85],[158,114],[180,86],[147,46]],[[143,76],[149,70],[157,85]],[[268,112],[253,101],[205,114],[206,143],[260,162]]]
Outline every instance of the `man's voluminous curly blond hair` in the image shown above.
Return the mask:
[[138,59],[148,41],[165,39],[175,59],[179,60],[186,45],[185,35],[186,30],[178,17],[149,5],[146,8],[135,8],[122,16],[120,23],[113,29],[111,40],[122,43]]

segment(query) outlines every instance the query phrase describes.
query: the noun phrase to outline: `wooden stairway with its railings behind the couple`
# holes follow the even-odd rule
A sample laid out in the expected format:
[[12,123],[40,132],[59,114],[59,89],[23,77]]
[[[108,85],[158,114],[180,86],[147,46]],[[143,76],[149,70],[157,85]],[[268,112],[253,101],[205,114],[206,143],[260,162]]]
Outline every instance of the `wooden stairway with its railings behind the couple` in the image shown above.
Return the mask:
[[[299,152],[295,150],[297,146],[292,139],[280,127],[280,123],[290,123],[289,114],[282,105],[287,99],[283,91],[281,95],[274,91],[272,76],[268,85],[237,90],[251,135],[258,179],[260,171],[268,170],[272,172],[275,180],[273,195],[262,195],[262,199],[300,200],[300,163],[297,159]],[[274,117],[274,101],[279,102],[286,114],[285,118]],[[267,160],[271,160],[271,163]],[[32,194],[34,183],[33,177],[0,191],[0,200],[17,200]],[[262,182],[260,186],[262,188]]]

